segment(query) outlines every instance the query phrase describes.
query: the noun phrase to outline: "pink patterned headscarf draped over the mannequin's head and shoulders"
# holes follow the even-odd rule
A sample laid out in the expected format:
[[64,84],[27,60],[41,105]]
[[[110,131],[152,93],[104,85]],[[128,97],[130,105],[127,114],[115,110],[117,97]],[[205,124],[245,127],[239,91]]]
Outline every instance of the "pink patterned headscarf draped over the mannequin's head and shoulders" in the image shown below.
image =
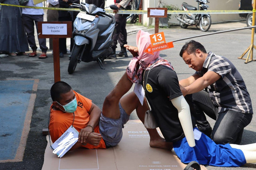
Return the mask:
[[[140,45],[138,45],[140,39]],[[144,50],[151,44],[150,42],[150,34],[148,32],[144,32],[139,30],[136,36],[136,45],[139,47],[138,56],[133,57],[130,61],[126,73],[128,78],[133,83],[141,83],[142,82],[142,72],[143,70],[148,70],[150,65],[154,63],[153,67],[158,65],[166,65],[173,69],[170,62],[163,59],[159,56],[160,51],[154,52],[154,54],[145,53]],[[140,66],[140,67],[139,67]],[[148,69],[147,69],[148,68]]]

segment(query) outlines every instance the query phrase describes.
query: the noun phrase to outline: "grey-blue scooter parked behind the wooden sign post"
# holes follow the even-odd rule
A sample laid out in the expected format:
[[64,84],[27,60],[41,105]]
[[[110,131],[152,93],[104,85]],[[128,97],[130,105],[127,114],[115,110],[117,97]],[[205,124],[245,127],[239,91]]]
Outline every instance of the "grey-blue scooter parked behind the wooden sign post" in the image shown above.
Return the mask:
[[[115,28],[115,18],[106,14],[102,8],[94,4],[73,3],[80,12],[74,20],[72,32],[74,45],[70,54],[68,73],[74,73],[77,63],[81,61],[97,61],[101,69],[105,69],[102,61],[112,52],[112,34]],[[112,10],[118,7],[110,5]]]

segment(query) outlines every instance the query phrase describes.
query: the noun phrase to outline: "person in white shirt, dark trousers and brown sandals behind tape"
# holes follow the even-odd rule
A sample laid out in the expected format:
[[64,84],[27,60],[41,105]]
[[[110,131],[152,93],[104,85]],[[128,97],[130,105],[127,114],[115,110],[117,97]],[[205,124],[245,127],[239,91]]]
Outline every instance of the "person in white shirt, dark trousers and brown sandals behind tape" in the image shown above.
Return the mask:
[[[35,6],[35,7],[42,7],[43,3],[35,4],[33,0],[29,0],[26,6]],[[44,10],[43,9],[36,9],[36,8],[22,8],[22,21],[25,28],[25,31],[28,36],[28,43],[29,46],[32,48],[32,53],[30,53],[29,57],[36,57],[36,41],[34,36],[34,24],[36,25],[36,29],[38,32],[37,22],[44,21]],[[39,59],[47,58],[46,51],[48,47],[46,46],[46,38],[38,38],[38,42],[40,45],[40,49],[42,50],[42,54],[38,57]]]

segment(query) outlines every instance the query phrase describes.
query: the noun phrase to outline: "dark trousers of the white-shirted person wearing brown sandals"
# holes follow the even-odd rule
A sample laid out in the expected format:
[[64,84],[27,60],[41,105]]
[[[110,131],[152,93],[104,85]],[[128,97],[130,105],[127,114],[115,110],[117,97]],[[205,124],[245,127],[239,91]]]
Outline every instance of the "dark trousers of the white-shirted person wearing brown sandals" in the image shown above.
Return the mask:
[[[22,22],[24,24],[24,29],[28,36],[28,44],[33,51],[36,51],[36,40],[35,40],[35,30],[34,24],[36,24],[36,31],[38,33],[38,21],[44,21],[44,15],[28,15],[22,14]],[[46,47],[46,38],[38,38],[39,46],[42,52],[46,53],[48,47]]]

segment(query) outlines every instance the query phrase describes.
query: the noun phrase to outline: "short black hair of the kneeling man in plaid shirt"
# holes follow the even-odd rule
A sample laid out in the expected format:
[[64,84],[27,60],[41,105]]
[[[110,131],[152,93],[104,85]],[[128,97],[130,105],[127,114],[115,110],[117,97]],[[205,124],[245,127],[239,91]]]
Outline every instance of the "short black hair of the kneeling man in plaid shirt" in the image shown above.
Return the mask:
[[200,49],[202,52],[206,53],[206,50],[201,43],[191,40],[183,45],[182,49],[180,50],[180,57],[182,57],[185,51],[187,51],[188,54],[191,54],[195,53],[196,49]]

